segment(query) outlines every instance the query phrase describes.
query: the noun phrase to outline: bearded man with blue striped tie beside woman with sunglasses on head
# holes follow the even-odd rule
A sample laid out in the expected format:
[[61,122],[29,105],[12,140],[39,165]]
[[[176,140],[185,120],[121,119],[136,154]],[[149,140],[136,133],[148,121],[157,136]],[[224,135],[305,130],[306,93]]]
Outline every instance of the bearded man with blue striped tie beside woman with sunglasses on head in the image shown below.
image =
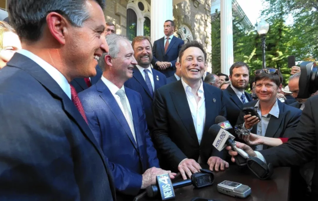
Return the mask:
[[243,104],[251,102],[252,97],[245,89],[249,85],[250,67],[244,62],[236,62],[230,67],[230,81],[232,82],[224,90],[227,119],[234,127]]

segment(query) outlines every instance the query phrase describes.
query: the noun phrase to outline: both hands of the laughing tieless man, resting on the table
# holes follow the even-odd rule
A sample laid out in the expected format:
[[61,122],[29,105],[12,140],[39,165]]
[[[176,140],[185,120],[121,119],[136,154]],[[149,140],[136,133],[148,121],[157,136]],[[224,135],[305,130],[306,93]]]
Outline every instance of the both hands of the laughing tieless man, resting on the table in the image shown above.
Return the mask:
[[[211,171],[219,171],[225,170],[225,168],[229,167],[229,163],[225,160],[222,160],[220,157],[212,156],[208,159],[207,164],[209,165],[209,169]],[[178,170],[181,173],[182,178],[185,180],[187,176],[191,178],[193,173],[199,172],[201,166],[193,159],[184,159],[178,166]]]

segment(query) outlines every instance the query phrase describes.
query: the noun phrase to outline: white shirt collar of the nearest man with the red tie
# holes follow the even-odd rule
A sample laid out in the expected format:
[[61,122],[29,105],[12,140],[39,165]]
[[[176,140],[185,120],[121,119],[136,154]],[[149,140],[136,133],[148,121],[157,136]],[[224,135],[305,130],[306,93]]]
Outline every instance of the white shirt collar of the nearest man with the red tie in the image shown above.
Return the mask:
[[55,82],[59,84],[59,86],[66,93],[66,95],[72,100],[71,86],[68,83],[66,77],[64,77],[64,75],[59,70],[57,70],[51,64],[47,63],[46,61],[44,61],[43,59],[41,59],[40,57],[36,56],[28,50],[18,50],[17,53],[30,58],[32,61],[41,66],[55,80]]

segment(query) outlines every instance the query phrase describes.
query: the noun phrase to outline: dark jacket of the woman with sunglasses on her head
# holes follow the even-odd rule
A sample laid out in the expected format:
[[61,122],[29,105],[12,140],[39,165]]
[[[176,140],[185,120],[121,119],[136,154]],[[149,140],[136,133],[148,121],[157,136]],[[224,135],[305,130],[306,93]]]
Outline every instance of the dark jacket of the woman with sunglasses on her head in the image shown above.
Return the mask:
[[[243,107],[254,107],[258,100],[245,103]],[[278,107],[279,107],[279,116],[278,118],[271,116],[265,137],[291,137],[291,132],[293,132],[299,123],[299,119],[301,116],[301,110],[289,106],[287,104],[283,104],[280,100],[277,99]],[[244,113],[241,112],[239,115],[239,119],[237,124],[244,123]],[[255,124],[252,128],[251,133],[257,134],[257,124]],[[269,146],[263,145],[263,149],[267,149]]]

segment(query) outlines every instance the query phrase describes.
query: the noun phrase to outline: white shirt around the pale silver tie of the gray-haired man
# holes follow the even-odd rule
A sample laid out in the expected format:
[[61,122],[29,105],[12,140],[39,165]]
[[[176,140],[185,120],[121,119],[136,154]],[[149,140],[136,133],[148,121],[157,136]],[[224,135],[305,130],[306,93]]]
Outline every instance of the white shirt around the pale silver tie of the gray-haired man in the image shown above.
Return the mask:
[[[120,109],[121,109],[121,112],[124,114],[125,118],[126,118],[126,121],[129,125],[129,128],[131,130],[131,132],[134,134],[135,133],[135,128],[134,128],[134,125],[132,125],[130,123],[130,119],[128,117],[128,114],[126,114],[125,110],[124,110],[124,107],[122,106],[121,104],[121,101],[120,101],[120,97],[116,94],[116,92],[118,90],[120,90],[115,84],[113,84],[111,81],[107,80],[104,76],[101,77],[101,80],[104,82],[104,84],[107,86],[107,88],[110,90],[110,92],[113,94],[117,104],[119,105]],[[124,85],[121,87],[122,90],[125,91],[125,87]],[[131,112],[131,108],[130,108],[130,104],[129,104],[129,100],[127,98],[127,95],[126,95],[126,91],[125,91],[125,97],[126,97],[126,103],[127,103],[127,107],[128,107],[128,110],[129,112],[131,113],[131,118],[133,118],[132,116],[132,112]],[[135,140],[136,140],[136,137],[134,136]]]

